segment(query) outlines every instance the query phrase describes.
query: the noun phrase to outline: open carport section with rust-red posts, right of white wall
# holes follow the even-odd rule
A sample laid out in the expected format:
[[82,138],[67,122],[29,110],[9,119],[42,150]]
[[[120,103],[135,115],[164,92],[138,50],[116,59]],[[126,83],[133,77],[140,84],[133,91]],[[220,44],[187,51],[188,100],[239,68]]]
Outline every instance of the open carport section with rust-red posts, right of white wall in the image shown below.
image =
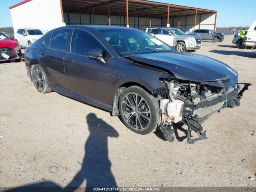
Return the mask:
[[140,29],[148,26],[194,29],[203,25],[203,28],[216,28],[215,10],[148,0],[61,0],[61,4],[63,22],[68,25],[108,24]]

